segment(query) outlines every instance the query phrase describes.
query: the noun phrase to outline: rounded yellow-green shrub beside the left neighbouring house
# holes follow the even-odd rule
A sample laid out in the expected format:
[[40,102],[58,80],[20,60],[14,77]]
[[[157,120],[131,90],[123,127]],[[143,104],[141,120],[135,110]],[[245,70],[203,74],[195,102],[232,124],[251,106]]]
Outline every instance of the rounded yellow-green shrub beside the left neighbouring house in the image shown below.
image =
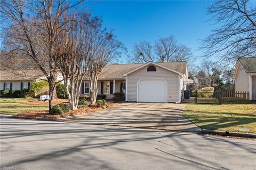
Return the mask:
[[32,96],[48,94],[49,83],[45,80],[40,80],[38,82],[32,82],[29,87],[30,94]]

